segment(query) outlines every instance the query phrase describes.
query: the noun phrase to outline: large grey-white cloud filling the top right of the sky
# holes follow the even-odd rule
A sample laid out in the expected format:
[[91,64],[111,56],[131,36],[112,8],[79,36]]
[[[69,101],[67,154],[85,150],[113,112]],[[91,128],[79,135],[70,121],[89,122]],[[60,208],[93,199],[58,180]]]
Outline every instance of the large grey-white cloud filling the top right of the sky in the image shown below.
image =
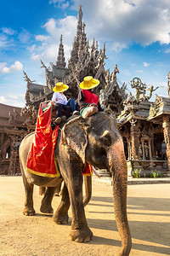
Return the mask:
[[122,44],[170,43],[170,4],[168,0],[74,0],[82,4],[88,36]]

